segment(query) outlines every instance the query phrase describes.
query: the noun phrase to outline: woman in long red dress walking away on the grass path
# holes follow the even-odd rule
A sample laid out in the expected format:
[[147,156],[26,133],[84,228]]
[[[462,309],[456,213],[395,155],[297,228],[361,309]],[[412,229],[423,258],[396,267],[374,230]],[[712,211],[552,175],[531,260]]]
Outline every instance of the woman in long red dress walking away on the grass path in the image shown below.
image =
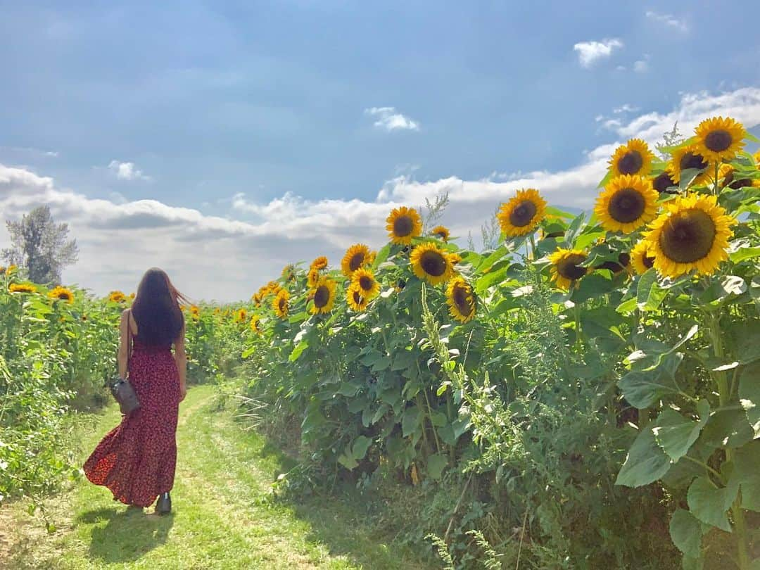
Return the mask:
[[152,268],[144,274],[135,302],[122,313],[117,358],[119,378],[128,372],[140,407],[123,416],[84,464],[87,479],[108,487],[115,501],[143,508],[158,498],[158,515],[172,508],[177,413],[186,393],[180,301],[187,299],[166,273]]

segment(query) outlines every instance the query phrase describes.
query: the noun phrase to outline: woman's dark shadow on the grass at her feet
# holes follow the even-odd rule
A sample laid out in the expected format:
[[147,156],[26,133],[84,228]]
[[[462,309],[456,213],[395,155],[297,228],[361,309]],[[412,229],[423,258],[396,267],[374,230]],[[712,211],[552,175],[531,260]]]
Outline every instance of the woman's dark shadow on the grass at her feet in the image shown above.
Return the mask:
[[90,534],[89,557],[100,562],[133,562],[150,550],[166,543],[174,524],[172,515],[147,516],[139,509],[118,511],[98,508],[78,516],[85,524],[108,523],[93,526]]

